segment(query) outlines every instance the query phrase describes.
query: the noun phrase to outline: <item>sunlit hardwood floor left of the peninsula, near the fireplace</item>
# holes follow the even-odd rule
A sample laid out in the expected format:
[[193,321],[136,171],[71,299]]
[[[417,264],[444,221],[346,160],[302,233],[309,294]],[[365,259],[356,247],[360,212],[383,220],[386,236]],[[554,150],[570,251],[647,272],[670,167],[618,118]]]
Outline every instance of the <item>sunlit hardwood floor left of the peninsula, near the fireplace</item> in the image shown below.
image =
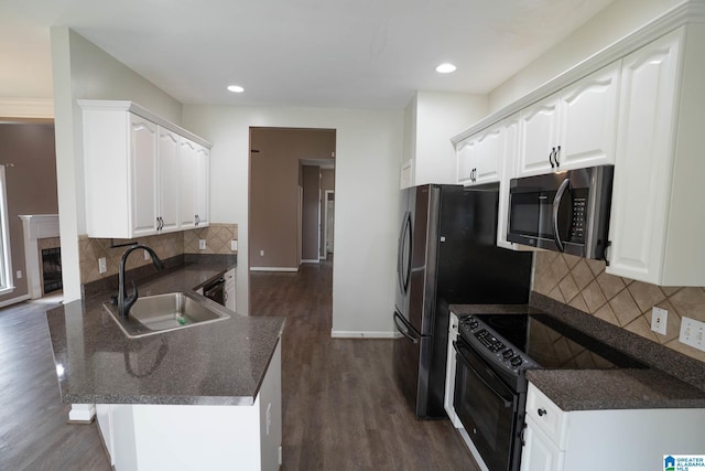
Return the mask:
[[0,310],[0,470],[109,471],[96,424],[68,425],[58,394],[45,309]]

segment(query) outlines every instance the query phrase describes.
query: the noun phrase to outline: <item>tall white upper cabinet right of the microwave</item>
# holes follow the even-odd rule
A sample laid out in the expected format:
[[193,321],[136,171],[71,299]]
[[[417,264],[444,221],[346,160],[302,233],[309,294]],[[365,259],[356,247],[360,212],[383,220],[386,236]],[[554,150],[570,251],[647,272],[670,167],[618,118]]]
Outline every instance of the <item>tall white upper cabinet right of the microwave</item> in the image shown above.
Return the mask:
[[625,57],[607,272],[705,286],[705,28]]

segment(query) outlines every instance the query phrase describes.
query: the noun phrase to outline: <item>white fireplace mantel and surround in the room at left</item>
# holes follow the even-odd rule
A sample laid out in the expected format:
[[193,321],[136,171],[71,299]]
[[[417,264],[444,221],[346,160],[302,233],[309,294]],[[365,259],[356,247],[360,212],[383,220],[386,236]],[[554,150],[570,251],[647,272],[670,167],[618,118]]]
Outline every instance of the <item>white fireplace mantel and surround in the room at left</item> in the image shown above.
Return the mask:
[[40,249],[41,238],[58,237],[58,214],[21,214],[24,229],[24,263],[30,298],[42,297]]

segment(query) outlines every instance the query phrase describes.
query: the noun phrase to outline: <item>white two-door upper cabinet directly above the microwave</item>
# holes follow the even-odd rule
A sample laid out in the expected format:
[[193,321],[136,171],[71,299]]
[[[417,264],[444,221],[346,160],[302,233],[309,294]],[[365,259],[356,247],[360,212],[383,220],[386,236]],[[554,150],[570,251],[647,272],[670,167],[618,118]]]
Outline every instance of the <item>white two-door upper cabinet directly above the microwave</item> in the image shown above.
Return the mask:
[[519,175],[615,161],[620,63],[521,111]]

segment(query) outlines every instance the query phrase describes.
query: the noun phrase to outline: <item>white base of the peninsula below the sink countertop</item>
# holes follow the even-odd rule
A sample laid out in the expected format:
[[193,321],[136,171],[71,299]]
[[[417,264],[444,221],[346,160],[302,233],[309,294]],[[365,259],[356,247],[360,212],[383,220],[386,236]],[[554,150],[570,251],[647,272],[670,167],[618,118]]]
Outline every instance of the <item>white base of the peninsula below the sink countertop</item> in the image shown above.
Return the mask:
[[278,470],[281,342],[251,406],[99,404],[96,409],[116,471]]

